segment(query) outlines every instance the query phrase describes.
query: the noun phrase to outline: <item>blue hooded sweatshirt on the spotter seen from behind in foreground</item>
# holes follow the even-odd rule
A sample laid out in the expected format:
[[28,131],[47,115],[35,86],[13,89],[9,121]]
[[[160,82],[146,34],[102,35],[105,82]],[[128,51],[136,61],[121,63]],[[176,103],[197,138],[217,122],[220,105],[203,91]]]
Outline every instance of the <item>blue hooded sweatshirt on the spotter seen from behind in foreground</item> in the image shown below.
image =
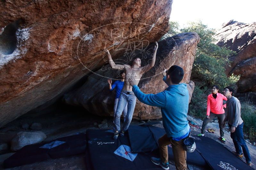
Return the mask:
[[[164,81],[165,81],[164,77]],[[157,94],[144,94],[136,85],[132,91],[140,102],[161,108],[164,130],[167,137],[179,138],[190,131],[187,113],[189,94],[187,84],[171,85],[163,92]]]

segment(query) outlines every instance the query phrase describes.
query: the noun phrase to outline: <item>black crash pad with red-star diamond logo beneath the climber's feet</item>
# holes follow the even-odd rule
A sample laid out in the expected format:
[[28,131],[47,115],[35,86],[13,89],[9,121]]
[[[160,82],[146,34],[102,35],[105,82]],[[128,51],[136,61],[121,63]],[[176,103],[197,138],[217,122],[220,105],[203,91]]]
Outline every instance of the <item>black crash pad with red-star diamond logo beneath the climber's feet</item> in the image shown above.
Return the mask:
[[[102,137],[102,138],[101,138]],[[85,163],[88,170],[161,170],[160,166],[153,164],[151,157],[157,156],[153,152],[132,153],[129,137],[113,140],[111,130],[87,130],[86,131],[86,156]],[[125,146],[124,146],[125,145]],[[125,148],[124,148],[125,147]],[[121,148],[121,149],[120,149]],[[129,150],[130,149],[130,150]],[[119,151],[117,155],[114,152]],[[121,168],[122,167],[122,168]]]

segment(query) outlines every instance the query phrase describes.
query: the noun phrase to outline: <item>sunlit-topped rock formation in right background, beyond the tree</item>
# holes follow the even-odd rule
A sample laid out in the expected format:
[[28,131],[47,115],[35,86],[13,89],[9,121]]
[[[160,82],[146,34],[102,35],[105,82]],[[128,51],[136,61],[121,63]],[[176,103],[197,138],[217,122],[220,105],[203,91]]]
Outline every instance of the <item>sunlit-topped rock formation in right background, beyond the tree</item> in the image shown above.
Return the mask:
[[256,22],[244,24],[229,21],[216,33],[217,45],[227,46],[236,54],[231,56],[231,66],[226,74],[241,75],[237,92],[256,92]]

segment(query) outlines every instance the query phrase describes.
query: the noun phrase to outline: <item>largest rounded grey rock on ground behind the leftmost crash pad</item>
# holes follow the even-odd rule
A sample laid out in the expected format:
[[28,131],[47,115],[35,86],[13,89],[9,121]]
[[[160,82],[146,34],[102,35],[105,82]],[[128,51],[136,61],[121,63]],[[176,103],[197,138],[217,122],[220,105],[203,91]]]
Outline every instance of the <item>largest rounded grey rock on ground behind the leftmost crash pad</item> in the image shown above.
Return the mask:
[[17,151],[17,150],[20,150],[23,146],[43,142],[45,138],[46,138],[46,135],[41,131],[19,132],[12,139],[11,150]]

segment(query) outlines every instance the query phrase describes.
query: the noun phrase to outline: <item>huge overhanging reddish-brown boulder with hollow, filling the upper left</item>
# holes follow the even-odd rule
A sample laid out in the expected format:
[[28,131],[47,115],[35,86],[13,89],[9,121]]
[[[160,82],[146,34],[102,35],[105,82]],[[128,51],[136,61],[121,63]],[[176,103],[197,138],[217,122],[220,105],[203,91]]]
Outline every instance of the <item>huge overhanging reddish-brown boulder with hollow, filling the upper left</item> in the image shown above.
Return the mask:
[[168,30],[172,0],[0,1],[0,127]]

